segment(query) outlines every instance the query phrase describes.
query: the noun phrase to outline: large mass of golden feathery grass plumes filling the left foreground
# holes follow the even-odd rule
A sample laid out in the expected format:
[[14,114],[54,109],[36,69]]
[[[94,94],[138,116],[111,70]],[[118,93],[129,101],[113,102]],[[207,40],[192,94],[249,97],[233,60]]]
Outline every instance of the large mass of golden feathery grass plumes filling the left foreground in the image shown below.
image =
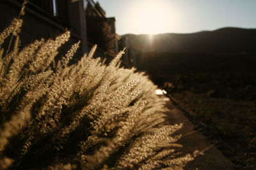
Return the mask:
[[119,67],[124,50],[106,66],[94,46],[68,65],[78,42],[53,71],[70,32],[22,50],[18,33],[10,53],[0,49],[0,169],[182,169],[196,156],[175,150],[182,125],[166,125],[163,99],[144,73]]

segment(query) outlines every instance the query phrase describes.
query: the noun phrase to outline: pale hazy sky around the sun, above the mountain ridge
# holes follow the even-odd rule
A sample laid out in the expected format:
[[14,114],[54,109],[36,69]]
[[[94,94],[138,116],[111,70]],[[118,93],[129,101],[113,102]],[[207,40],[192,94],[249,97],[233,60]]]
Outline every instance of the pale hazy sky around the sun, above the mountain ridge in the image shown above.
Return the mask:
[[[97,1],[97,0],[95,0]],[[120,35],[256,28],[256,0],[98,0]]]

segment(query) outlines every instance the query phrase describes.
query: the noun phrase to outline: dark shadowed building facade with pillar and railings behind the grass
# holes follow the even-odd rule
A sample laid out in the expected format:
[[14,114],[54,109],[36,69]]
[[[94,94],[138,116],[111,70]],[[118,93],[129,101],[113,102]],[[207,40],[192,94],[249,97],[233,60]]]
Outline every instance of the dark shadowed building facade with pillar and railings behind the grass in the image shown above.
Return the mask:
[[[19,15],[22,2],[23,0],[0,0],[0,30]],[[97,57],[106,58],[108,61],[113,59],[118,51],[127,48],[125,43],[121,43],[122,37],[116,34],[115,17],[107,18],[100,4],[93,0],[28,0],[25,11],[20,33],[21,46],[26,46],[35,39],[52,38],[68,29],[71,32],[69,44],[81,40],[77,56],[82,56],[98,43],[93,35],[99,32],[90,32],[93,27],[90,24],[93,24],[94,20],[94,23],[100,25],[102,22],[101,25],[104,26],[102,37],[98,38],[104,41],[98,45],[95,52]],[[134,57],[128,57],[128,49],[123,56],[124,66],[132,66],[135,63],[129,60]]]

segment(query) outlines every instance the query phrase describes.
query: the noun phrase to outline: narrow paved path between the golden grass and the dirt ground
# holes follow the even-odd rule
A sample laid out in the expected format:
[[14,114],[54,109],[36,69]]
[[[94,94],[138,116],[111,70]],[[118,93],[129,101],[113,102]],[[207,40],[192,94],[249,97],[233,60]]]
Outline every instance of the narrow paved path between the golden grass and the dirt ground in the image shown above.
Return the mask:
[[166,112],[167,120],[171,124],[183,123],[183,128],[179,131],[182,138],[177,142],[183,145],[179,150],[182,153],[193,153],[195,150],[205,150],[204,155],[198,155],[195,160],[189,162],[184,169],[234,169],[232,162],[224,157],[224,155],[205,136],[194,131],[193,125],[182,111],[178,110],[170,101],[166,102],[166,107],[170,111]]

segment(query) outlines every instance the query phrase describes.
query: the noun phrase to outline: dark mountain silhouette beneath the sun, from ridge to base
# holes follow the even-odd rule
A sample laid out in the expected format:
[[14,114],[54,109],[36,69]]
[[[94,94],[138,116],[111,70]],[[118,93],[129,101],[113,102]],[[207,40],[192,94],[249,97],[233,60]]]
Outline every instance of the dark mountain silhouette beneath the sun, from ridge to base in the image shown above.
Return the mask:
[[207,71],[256,71],[256,29],[225,27],[191,34],[126,34],[138,69],[159,76]]

